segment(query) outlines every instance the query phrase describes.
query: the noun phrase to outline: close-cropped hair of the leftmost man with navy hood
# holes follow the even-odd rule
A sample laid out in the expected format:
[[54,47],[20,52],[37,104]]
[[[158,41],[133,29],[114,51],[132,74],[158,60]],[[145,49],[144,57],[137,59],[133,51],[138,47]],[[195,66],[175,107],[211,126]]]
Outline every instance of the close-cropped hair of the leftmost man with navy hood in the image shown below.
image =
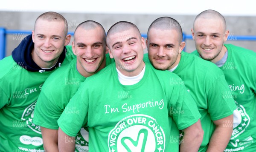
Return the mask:
[[68,26],[67,26],[67,20],[59,13],[56,13],[54,11],[48,11],[43,14],[41,14],[36,20],[35,20],[35,26],[34,31],[36,29],[36,24],[38,20],[47,20],[48,22],[63,22],[65,26],[65,35],[67,35]]

